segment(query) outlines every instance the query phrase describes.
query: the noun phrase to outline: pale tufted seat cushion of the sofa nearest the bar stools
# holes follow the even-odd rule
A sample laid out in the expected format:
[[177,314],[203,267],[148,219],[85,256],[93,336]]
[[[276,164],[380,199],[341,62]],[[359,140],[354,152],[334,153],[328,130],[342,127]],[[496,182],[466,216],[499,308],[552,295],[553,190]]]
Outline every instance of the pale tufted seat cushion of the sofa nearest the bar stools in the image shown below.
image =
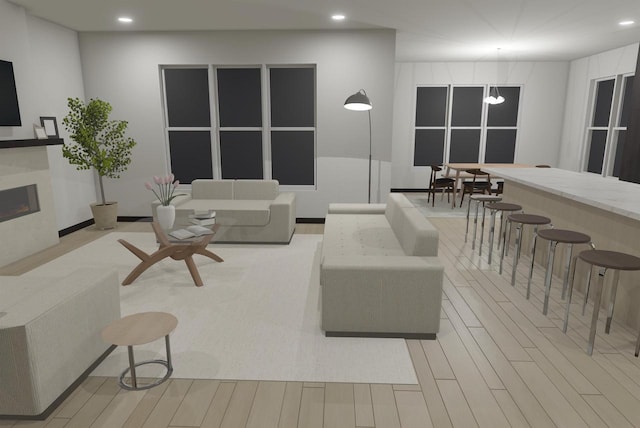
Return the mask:
[[329,214],[325,219],[322,254],[403,256],[404,251],[383,215]]

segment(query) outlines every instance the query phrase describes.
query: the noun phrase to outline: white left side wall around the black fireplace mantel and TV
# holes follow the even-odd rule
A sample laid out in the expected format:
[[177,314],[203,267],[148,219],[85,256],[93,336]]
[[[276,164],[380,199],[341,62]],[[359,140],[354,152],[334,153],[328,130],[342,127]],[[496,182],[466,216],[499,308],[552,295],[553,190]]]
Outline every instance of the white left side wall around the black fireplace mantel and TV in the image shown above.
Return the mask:
[[[20,127],[0,127],[0,139],[34,138],[33,124],[40,124],[40,116],[54,116],[60,136],[68,140],[62,126],[66,99],[84,98],[77,33],[0,0],[0,40],[0,59],[13,62],[22,118]],[[90,219],[89,203],[96,200],[93,176],[69,165],[60,146],[47,152],[58,230]]]

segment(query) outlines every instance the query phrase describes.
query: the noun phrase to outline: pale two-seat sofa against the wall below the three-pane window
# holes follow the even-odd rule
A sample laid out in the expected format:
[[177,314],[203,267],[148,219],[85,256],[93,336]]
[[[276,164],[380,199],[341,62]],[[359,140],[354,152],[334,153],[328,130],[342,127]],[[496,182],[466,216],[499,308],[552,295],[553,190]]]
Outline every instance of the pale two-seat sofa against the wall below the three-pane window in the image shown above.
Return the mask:
[[[277,180],[194,180],[191,194],[172,202],[176,227],[188,226],[189,214],[213,210],[220,229],[214,242],[279,243],[291,241],[296,226],[296,197],[280,193]],[[156,218],[158,202],[152,204]]]

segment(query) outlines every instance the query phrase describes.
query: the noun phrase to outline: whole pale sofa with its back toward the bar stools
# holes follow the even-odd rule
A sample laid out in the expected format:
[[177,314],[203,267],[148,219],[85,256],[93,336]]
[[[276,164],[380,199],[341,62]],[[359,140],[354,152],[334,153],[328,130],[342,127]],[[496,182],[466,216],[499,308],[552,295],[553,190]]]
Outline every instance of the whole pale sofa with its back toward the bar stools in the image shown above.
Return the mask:
[[331,204],[322,243],[327,336],[434,339],[444,266],[438,231],[400,193],[381,207]]

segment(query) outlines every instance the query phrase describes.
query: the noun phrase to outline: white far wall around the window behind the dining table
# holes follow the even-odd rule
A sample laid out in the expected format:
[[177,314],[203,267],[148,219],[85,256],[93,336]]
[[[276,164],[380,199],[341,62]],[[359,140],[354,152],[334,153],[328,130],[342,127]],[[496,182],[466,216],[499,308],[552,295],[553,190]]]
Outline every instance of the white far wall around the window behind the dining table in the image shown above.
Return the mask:
[[515,162],[558,163],[567,62],[447,62],[396,64],[393,111],[392,188],[425,188],[429,167],[413,166],[416,87],[497,81],[524,85],[520,94]]

